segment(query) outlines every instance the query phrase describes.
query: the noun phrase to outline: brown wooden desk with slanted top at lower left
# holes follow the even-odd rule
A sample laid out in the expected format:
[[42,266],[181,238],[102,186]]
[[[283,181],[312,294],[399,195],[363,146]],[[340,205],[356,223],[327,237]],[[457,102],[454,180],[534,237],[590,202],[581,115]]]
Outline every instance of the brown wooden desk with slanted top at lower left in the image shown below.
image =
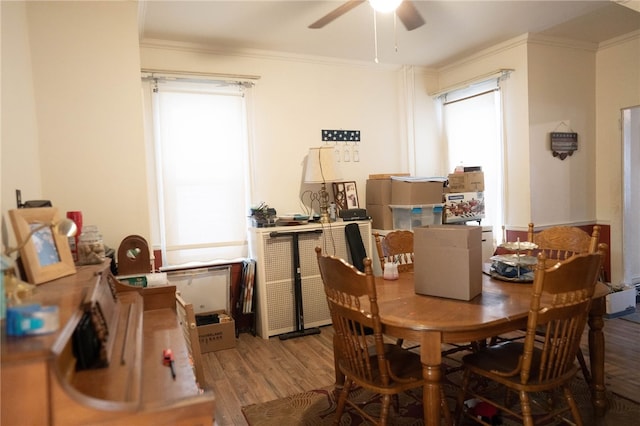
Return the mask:
[[[86,307],[100,300],[109,325],[108,366],[76,371],[73,332]],[[60,327],[13,337],[3,324],[3,426],[213,424],[214,397],[196,383],[175,286],[122,284],[105,262],[39,285],[32,301],[57,305]],[[175,357],[175,380],[163,365],[166,348]]]

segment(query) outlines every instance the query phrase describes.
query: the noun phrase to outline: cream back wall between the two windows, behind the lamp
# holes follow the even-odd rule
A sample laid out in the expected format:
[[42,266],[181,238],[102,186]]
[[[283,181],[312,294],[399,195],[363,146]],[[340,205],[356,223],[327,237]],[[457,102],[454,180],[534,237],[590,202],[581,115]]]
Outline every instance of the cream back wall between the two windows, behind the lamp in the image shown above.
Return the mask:
[[140,58],[143,69],[260,77],[254,89],[253,203],[300,211],[301,191],[319,189],[302,179],[309,148],[324,143],[322,129],[361,131],[360,162],[341,162],[340,168],[343,180],[356,181],[362,206],[369,174],[408,170],[402,69],[260,52],[231,56],[162,42],[143,43]]

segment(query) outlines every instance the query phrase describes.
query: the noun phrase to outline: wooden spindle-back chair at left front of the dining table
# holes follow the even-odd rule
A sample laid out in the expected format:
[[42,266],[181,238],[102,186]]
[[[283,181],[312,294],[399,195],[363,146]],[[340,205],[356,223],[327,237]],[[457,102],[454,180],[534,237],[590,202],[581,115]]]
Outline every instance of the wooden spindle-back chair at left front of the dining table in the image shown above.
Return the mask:
[[[370,258],[364,260],[365,271],[360,272],[342,259],[322,255],[320,247],[316,247],[316,253],[335,330],[336,369],[345,378],[333,424],[340,423],[347,405],[373,424],[393,423],[389,421],[392,399],[397,409],[399,393],[424,385],[420,356],[395,344],[384,343]],[[373,330],[373,335],[364,331],[367,328]],[[382,398],[378,418],[367,412],[361,402],[349,398],[354,386]],[[378,400],[376,397],[368,402]],[[442,411],[450,424],[444,392]]]

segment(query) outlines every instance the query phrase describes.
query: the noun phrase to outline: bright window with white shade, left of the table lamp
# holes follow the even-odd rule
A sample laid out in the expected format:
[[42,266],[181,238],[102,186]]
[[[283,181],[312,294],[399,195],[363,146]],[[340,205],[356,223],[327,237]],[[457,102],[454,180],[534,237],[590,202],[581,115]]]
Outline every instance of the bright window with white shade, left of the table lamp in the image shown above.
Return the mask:
[[151,238],[165,266],[247,256],[250,91],[143,77]]

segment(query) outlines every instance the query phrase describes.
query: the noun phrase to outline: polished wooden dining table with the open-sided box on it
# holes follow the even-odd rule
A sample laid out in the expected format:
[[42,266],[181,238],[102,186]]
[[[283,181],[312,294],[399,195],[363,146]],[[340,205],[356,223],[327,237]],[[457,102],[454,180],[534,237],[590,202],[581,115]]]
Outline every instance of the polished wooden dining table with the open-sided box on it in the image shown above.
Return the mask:
[[[501,281],[486,274],[482,294],[470,301],[416,294],[413,272],[401,273],[394,281],[376,277],[376,290],[383,332],[420,344],[426,425],[440,425],[441,345],[477,342],[526,328],[531,297],[530,283]],[[607,293],[607,286],[598,283],[588,320],[592,403],[599,416],[607,403],[602,333]]]

